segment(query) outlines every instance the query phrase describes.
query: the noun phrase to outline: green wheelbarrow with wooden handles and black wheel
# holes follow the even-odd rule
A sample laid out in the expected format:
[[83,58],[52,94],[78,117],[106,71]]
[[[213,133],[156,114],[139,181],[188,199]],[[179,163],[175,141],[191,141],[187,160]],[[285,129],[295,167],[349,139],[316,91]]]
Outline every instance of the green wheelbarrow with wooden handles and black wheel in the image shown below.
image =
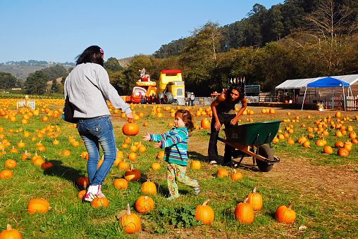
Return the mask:
[[[269,172],[273,164],[280,162],[271,150],[271,141],[276,136],[279,127],[280,121],[270,121],[240,124],[223,129],[226,139],[218,137],[218,140],[235,148],[232,153],[231,167],[240,164],[244,157],[252,156],[253,164],[257,165],[261,172]],[[269,143],[269,146],[266,143]],[[238,162],[233,160],[238,157],[241,157]]]

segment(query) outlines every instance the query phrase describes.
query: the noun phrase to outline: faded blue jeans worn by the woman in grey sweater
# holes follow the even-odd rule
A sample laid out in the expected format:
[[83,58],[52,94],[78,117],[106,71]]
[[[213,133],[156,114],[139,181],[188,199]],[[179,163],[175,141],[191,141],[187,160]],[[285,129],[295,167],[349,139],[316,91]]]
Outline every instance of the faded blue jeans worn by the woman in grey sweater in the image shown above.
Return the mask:
[[[109,116],[80,119],[77,122],[77,129],[88,152],[88,181],[90,181],[90,185],[102,185],[117,157],[116,140],[111,119]],[[104,152],[104,161],[101,167],[97,169],[99,144]]]

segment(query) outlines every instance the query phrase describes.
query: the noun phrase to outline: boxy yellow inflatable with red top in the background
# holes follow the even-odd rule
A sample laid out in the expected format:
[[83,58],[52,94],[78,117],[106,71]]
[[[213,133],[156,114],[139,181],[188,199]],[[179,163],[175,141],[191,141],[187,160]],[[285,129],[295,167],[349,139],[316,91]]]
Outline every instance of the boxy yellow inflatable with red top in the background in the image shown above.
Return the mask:
[[156,88],[157,101],[165,104],[185,105],[190,92],[185,92],[181,70],[162,70],[159,85]]

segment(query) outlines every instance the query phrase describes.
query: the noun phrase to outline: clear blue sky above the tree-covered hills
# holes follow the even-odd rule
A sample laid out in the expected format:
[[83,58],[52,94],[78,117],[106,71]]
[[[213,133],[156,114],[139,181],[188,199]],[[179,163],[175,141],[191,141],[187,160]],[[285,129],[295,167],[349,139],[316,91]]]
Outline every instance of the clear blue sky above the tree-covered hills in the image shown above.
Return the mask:
[[92,45],[104,49],[105,60],[152,54],[209,20],[242,20],[254,4],[271,8],[283,0],[0,0],[0,63],[75,62]]

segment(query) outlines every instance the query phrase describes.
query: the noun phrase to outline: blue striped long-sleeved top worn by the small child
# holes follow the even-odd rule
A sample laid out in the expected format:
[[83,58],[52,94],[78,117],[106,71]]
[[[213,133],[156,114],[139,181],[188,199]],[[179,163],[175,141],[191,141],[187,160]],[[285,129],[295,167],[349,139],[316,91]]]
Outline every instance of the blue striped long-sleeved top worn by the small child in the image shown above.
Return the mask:
[[187,166],[187,128],[173,128],[165,134],[151,134],[150,141],[161,141],[165,148],[164,161]]

